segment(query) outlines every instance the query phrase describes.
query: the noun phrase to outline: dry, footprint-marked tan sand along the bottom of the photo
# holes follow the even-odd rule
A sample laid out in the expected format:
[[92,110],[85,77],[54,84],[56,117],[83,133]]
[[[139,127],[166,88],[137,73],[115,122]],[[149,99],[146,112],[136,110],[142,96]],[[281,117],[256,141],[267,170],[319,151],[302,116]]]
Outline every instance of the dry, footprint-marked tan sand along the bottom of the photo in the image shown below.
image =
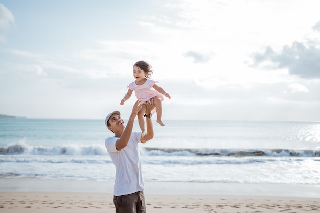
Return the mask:
[[[146,194],[147,212],[320,212],[319,198]],[[0,212],[115,212],[110,193],[0,192]]]

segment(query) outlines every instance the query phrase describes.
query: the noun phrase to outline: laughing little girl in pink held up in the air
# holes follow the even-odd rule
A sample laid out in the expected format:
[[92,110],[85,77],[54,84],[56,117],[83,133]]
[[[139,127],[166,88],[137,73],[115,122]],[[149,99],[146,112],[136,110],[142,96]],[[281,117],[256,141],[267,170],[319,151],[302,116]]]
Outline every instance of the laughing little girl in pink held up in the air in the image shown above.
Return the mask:
[[[136,98],[142,100],[143,102],[148,101],[153,98],[155,111],[157,114],[156,122],[161,126],[165,126],[165,124],[161,121],[162,116],[162,105],[163,96],[171,99],[170,95],[163,90],[163,88],[159,87],[153,81],[149,79],[153,74],[151,70],[151,66],[145,61],[138,61],[133,65],[133,77],[135,81],[131,82],[128,86],[128,92],[125,94],[124,98],[121,100],[120,105],[123,105],[126,100],[131,97],[132,91],[135,92]],[[145,121],[143,119],[144,116],[151,117],[151,113],[149,115],[145,115],[146,106],[143,105],[142,109],[138,113],[138,122],[140,129],[142,131],[142,137],[147,134],[145,130]]]

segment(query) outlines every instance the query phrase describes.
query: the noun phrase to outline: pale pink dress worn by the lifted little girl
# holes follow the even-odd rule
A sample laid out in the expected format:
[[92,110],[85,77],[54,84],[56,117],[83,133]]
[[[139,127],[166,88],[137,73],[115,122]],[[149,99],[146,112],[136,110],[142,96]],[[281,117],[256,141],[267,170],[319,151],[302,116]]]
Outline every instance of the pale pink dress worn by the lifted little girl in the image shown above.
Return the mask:
[[153,88],[153,85],[158,83],[157,81],[153,81],[151,79],[147,79],[147,81],[142,85],[136,85],[135,81],[131,82],[128,86],[128,89],[134,91],[137,99],[142,100],[143,102],[148,101],[153,97],[158,97],[161,101],[164,100],[163,94],[158,92]]

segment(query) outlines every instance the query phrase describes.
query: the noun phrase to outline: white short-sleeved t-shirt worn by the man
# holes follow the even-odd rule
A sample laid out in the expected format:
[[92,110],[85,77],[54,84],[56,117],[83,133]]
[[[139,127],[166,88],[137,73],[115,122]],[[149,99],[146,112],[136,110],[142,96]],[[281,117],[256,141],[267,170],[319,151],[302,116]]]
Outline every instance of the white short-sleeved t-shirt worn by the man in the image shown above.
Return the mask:
[[144,190],[138,147],[140,135],[141,132],[132,132],[128,145],[119,151],[116,149],[116,141],[119,137],[108,137],[105,140],[105,147],[116,166],[116,181],[113,190],[115,196]]

